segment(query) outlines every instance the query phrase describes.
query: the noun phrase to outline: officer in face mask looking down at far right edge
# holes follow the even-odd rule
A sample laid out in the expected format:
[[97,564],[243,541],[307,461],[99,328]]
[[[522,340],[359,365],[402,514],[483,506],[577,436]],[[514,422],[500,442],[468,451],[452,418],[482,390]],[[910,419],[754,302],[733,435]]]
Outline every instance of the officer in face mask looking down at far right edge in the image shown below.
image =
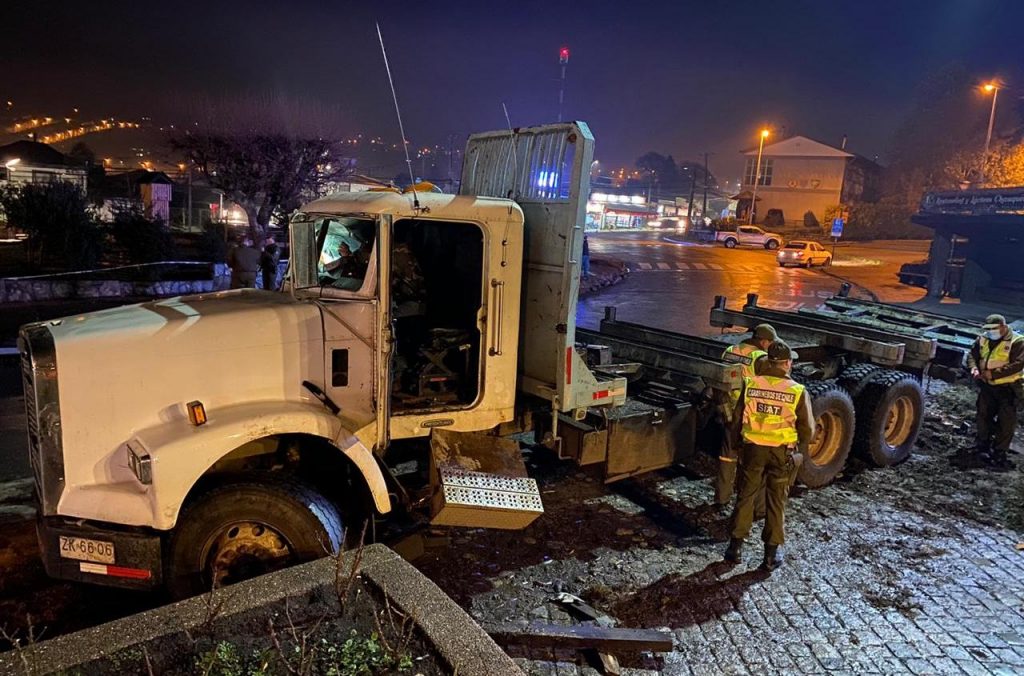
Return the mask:
[[953,464],[1006,471],[1013,467],[1007,454],[1017,429],[1017,408],[1024,398],[1024,336],[1007,326],[1001,314],[989,314],[967,363],[978,383],[977,443],[958,453]]

